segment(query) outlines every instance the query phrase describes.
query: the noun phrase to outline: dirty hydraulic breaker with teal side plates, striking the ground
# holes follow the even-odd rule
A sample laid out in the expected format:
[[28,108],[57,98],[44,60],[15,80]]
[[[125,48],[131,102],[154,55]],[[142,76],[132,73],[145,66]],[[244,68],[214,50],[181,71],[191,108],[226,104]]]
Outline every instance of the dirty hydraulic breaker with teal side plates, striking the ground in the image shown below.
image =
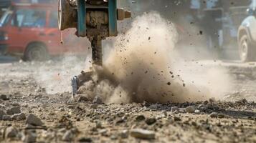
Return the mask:
[[[117,0],[59,0],[59,28],[76,28],[77,36],[90,40],[93,64],[103,66],[102,40],[118,35],[117,21],[131,18],[131,12],[117,8]],[[90,79],[92,72],[72,78],[72,96]]]

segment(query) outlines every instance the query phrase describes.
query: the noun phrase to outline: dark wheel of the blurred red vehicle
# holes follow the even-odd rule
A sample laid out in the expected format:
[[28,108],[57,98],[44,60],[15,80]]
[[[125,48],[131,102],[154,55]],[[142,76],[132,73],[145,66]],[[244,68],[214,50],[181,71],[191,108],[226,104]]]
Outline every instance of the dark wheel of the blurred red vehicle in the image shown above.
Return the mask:
[[24,54],[25,61],[45,61],[49,54],[42,44],[30,44]]

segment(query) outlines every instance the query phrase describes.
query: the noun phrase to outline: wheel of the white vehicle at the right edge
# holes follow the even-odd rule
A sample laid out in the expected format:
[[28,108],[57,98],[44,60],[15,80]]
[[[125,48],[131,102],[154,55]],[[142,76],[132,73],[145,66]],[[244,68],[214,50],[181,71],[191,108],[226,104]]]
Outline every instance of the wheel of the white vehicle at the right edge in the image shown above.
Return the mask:
[[239,44],[239,54],[242,62],[254,61],[256,54],[253,45],[250,43],[247,35],[242,36]]

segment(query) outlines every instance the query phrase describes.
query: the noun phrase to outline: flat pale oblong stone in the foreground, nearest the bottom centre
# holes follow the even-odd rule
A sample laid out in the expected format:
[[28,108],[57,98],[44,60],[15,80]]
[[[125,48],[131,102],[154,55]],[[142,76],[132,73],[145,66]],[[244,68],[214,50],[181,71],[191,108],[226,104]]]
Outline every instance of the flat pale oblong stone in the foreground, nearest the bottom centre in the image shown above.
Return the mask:
[[138,139],[155,139],[155,132],[146,129],[132,129],[130,134]]

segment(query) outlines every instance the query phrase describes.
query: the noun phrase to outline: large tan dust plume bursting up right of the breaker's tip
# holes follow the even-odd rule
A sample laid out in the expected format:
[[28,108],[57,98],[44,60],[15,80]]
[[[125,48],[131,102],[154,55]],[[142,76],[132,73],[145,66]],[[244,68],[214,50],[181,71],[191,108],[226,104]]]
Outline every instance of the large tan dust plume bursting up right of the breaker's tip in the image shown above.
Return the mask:
[[230,89],[229,74],[225,69],[202,69],[175,54],[177,36],[174,25],[156,12],[138,16],[131,29],[115,39],[103,68],[95,67],[94,82],[85,83],[81,91],[114,103],[221,97]]

